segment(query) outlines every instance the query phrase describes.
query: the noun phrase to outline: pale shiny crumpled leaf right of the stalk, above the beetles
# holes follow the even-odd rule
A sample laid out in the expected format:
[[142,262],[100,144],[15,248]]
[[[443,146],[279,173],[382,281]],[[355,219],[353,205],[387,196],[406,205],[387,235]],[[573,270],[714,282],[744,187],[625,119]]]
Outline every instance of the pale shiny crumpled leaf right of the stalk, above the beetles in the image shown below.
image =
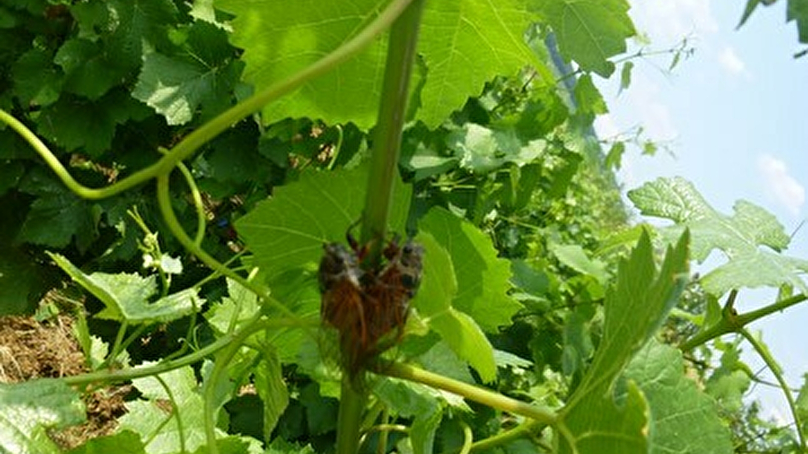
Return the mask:
[[460,166],[487,173],[512,162],[523,166],[539,158],[547,143],[541,139],[522,144],[514,128],[490,129],[467,123],[449,133],[447,145],[460,158]]

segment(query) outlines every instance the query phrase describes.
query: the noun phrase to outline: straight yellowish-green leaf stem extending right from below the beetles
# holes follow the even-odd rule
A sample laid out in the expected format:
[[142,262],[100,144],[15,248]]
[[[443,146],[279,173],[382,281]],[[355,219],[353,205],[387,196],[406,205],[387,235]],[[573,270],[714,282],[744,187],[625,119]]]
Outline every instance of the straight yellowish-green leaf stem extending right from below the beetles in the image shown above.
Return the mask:
[[409,364],[385,363],[375,371],[382,375],[394,376],[404,380],[415,381],[432,388],[443,389],[449,393],[455,393],[469,400],[479,402],[497,410],[507,411],[512,414],[519,414],[525,418],[531,418],[542,426],[558,425],[558,414],[553,410],[541,406],[531,405],[523,401],[517,401],[511,397],[494,393],[479,386],[469,385],[458,380],[452,380],[446,376],[416,368]]

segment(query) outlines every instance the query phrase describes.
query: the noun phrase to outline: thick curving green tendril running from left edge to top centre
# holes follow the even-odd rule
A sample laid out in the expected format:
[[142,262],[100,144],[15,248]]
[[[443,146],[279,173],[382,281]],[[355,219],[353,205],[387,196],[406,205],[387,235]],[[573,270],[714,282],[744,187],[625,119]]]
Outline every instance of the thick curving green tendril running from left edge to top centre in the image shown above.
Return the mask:
[[170,172],[170,170],[176,166],[177,162],[183,161],[191,156],[191,154],[197,149],[200,149],[202,145],[213,139],[213,137],[221,134],[221,132],[224,132],[239,120],[244,119],[255,111],[259,111],[259,109],[267,105],[267,103],[271,103],[275,99],[296,90],[305,82],[318,78],[322,74],[326,74],[331,69],[334,69],[337,65],[351,59],[351,57],[360,53],[368,44],[372,43],[382,32],[385,32],[412,1],[413,0],[393,0],[384,11],[381,11],[381,14],[379,14],[376,19],[373,19],[372,23],[368,24],[368,27],[364,27],[361,32],[351,38],[351,40],[347,40],[333,52],[315,61],[312,65],[309,65],[300,72],[293,74],[291,77],[259,91],[242,103],[236,104],[234,107],[230,107],[227,111],[222,112],[213,120],[208,121],[208,123],[205,123],[199,129],[188,134],[187,137],[183,138],[183,141],[179,142],[179,144],[171,149],[170,153],[166,154],[166,156],[162,157],[158,162],[138,170],[127,178],[112,183],[107,187],[94,189],[78,183],[65,169],[65,166],[62,166],[61,162],[59,162],[56,156],[48,149],[48,146],[44,145],[39,137],[36,137],[36,134],[28,129],[22,122],[15,119],[14,116],[9,115],[2,109],[0,109],[0,121],[11,126],[28,144],[32,145],[36,153],[40,154],[44,161],[48,163],[48,166],[51,167],[51,170],[57,174],[57,177],[61,179],[62,183],[65,183],[65,186],[67,186],[70,191],[74,191],[74,193],[85,199],[103,199],[110,197],[131,187],[145,183],[149,179],[154,179],[160,174]]

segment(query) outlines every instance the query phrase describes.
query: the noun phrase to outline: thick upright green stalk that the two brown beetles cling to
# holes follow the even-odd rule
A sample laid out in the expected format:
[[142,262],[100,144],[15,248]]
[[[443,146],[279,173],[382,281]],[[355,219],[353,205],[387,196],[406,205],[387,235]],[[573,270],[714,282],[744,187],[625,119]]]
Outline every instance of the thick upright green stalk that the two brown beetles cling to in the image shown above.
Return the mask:
[[[370,178],[362,219],[361,240],[370,245],[370,266],[378,263],[386,235],[422,9],[423,0],[414,0],[390,29],[385,78],[373,134]],[[343,372],[337,422],[337,454],[356,454],[359,449],[367,391],[356,386],[356,381],[356,377]]]

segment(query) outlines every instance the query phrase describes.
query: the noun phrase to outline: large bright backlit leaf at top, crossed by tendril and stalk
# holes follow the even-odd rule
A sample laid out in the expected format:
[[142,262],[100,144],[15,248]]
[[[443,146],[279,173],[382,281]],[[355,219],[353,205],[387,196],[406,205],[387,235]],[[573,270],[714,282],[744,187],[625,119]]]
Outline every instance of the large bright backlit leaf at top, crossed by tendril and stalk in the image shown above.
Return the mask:
[[[290,8],[278,0],[217,0],[216,6],[236,16],[231,41],[245,49],[246,80],[265,87],[355,36],[387,3],[306,0]],[[523,0],[426,2],[418,51],[428,73],[416,117],[436,126],[494,76],[541,65],[522,38],[530,20]],[[267,106],[264,120],[307,116],[369,128],[381,95],[385,47],[384,40],[375,40],[360,55]]]

